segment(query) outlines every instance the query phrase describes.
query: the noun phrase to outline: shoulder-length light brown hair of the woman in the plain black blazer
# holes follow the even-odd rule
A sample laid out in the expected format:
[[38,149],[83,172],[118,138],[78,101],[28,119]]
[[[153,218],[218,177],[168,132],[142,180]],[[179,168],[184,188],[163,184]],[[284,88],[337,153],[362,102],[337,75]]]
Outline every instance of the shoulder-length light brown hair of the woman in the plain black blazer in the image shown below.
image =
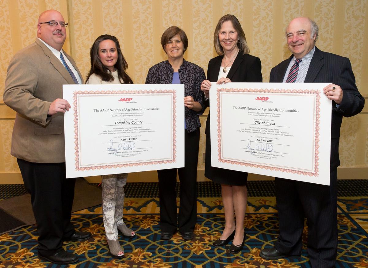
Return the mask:
[[243,52],[244,54],[248,54],[250,50],[249,50],[249,46],[247,44],[247,39],[245,39],[245,34],[244,34],[244,31],[243,31],[243,28],[241,28],[240,22],[237,19],[237,17],[235,17],[234,15],[231,15],[231,14],[224,15],[222,18],[220,18],[219,22],[217,22],[215,33],[213,34],[213,46],[215,46],[216,53],[218,55],[223,55],[224,54],[224,50],[223,50],[222,46],[220,45],[219,32],[220,32],[220,29],[222,27],[222,24],[225,21],[231,21],[235,31],[237,31],[237,33],[238,33],[239,41],[238,41],[237,45],[238,45],[239,50],[241,52]]

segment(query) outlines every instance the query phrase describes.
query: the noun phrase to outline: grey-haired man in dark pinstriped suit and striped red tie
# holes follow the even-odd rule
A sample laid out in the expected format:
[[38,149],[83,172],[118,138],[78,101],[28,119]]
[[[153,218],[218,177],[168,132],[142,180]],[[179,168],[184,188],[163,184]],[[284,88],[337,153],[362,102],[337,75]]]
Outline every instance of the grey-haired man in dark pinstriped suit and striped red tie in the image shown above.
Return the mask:
[[259,255],[268,260],[300,255],[306,217],[312,267],[332,268],[337,253],[340,126],[343,116],[353,116],[363,109],[364,98],[355,85],[349,59],[315,46],[318,26],[314,21],[295,18],[286,29],[286,38],[293,55],[272,68],[270,82],[332,82],[323,88],[326,98],[332,100],[330,185],[275,178],[280,235],[275,247],[265,248]]

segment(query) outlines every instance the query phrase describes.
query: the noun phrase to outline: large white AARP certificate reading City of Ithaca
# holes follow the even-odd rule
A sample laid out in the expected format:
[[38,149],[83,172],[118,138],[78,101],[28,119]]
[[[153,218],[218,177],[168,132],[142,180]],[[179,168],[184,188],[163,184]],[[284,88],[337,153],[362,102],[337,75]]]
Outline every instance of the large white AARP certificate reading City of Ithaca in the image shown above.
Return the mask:
[[212,166],[329,185],[328,83],[212,83]]

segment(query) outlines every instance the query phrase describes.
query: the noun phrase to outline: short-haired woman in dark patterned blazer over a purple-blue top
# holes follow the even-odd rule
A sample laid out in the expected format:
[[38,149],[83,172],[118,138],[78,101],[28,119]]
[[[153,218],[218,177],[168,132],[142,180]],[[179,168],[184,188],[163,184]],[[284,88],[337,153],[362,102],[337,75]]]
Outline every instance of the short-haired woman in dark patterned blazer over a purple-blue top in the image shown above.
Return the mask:
[[[197,163],[199,148],[198,115],[202,113],[201,82],[206,79],[204,70],[184,60],[188,47],[185,32],[171,26],[161,36],[161,45],[167,60],[149,68],[146,84],[184,84],[184,167],[158,170],[160,196],[161,239],[173,237],[177,228],[185,240],[194,237],[197,221]],[[176,170],[180,179],[180,207],[176,207]]]

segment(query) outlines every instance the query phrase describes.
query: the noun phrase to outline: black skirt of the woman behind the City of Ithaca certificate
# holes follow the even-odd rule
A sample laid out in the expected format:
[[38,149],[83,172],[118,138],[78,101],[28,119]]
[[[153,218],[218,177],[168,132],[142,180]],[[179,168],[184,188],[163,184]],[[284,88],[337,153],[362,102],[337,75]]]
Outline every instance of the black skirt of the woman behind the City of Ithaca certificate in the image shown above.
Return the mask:
[[244,186],[247,185],[248,172],[211,166],[211,137],[206,135],[205,176],[215,183]]

